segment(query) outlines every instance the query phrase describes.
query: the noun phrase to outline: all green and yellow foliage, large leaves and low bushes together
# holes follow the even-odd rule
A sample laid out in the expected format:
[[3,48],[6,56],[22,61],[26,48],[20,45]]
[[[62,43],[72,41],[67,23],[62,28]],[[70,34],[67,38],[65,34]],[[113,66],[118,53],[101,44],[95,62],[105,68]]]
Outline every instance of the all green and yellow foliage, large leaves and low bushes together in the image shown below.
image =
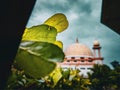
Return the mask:
[[79,75],[79,70],[57,68],[64,53],[62,42],[56,40],[59,32],[68,27],[64,14],[50,17],[44,24],[26,28],[12,65],[7,88],[42,90],[120,90],[120,64],[94,65],[89,78]]

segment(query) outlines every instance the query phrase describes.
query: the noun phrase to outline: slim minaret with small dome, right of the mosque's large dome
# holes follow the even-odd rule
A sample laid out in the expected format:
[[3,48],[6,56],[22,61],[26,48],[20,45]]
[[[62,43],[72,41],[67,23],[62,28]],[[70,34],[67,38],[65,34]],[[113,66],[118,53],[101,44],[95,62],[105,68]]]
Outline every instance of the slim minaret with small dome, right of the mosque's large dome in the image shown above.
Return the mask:
[[103,64],[103,58],[101,57],[101,46],[99,41],[94,41],[93,43],[93,55],[94,55],[94,63],[95,64]]

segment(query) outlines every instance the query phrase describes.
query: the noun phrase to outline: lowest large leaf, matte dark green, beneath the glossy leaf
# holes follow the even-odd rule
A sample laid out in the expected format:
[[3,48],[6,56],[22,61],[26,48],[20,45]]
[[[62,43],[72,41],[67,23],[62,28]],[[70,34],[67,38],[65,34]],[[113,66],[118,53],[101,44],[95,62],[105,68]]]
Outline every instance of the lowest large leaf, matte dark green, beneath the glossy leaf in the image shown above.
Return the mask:
[[40,79],[49,74],[56,67],[55,63],[30,54],[22,49],[20,49],[18,53],[14,65],[17,69],[24,70],[26,75],[33,78]]

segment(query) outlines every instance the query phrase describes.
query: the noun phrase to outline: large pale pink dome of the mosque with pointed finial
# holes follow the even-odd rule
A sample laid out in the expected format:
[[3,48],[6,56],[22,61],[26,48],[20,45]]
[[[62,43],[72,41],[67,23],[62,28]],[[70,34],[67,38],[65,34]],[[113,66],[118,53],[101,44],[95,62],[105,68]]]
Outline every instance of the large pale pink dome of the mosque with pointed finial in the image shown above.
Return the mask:
[[93,53],[89,47],[84,44],[78,43],[78,41],[65,50],[65,56],[80,56],[80,57],[92,57]]

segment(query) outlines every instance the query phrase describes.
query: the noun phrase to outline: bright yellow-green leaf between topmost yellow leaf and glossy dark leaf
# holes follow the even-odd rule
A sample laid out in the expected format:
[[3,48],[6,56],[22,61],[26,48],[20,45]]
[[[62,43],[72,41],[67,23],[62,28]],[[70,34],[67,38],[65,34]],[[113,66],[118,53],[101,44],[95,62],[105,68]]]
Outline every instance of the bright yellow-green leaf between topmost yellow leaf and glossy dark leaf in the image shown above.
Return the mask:
[[22,40],[42,41],[54,43],[56,41],[57,30],[56,28],[42,24],[26,28]]

